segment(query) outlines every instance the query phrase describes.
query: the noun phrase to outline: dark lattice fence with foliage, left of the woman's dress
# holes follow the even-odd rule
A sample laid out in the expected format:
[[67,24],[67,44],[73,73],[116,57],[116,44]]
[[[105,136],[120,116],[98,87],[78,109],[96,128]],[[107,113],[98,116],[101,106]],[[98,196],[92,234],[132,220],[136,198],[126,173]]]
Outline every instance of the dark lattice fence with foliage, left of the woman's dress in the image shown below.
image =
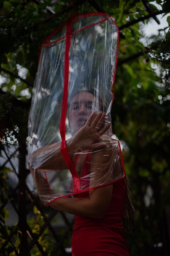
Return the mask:
[[0,255],[71,255],[74,216],[44,207],[35,191],[25,146],[0,153]]

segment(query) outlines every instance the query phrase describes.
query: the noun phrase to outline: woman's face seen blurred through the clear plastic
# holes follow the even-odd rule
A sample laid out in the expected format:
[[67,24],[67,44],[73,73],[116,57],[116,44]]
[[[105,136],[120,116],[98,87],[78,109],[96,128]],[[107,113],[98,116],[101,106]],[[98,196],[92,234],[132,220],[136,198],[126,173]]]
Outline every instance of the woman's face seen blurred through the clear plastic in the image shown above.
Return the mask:
[[76,133],[82,126],[85,125],[90,114],[95,109],[95,97],[89,92],[81,92],[76,94],[70,102],[69,123],[73,133]]

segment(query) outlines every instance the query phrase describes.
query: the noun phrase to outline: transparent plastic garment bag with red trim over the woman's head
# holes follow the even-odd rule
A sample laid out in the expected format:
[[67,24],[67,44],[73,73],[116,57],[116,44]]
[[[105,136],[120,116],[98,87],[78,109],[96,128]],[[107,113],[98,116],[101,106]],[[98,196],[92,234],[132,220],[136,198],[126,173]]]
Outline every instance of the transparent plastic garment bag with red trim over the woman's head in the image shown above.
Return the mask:
[[68,152],[70,139],[91,112],[106,113],[102,126],[111,122],[117,55],[118,27],[105,13],[72,16],[41,47],[28,121],[28,164],[43,177],[36,189],[45,205],[125,175],[111,128],[102,138],[105,149]]

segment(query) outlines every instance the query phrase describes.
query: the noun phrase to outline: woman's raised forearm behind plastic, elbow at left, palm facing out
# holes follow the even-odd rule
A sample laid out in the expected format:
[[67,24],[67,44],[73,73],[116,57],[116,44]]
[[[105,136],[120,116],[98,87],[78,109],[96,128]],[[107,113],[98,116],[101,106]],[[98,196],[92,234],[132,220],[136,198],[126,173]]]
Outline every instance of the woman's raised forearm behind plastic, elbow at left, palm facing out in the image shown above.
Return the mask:
[[[78,132],[67,141],[67,150],[72,162],[74,162],[76,151],[80,148],[94,150],[106,146],[100,136],[108,130],[110,124],[107,124],[105,128],[98,132],[104,118],[105,113],[99,112],[97,114],[93,112],[85,126],[78,130]],[[61,143],[51,144],[35,150],[28,157],[28,165],[44,171],[56,170],[56,168],[58,170],[67,169],[68,167],[61,154],[60,146]]]

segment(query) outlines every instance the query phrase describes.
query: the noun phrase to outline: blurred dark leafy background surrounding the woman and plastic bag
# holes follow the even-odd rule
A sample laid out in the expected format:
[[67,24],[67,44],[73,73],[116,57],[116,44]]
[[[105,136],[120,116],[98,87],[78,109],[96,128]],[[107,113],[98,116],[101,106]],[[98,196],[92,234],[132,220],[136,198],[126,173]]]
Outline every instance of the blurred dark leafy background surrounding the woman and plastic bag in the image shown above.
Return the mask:
[[72,215],[44,207],[27,166],[28,114],[46,37],[73,13],[119,27],[113,137],[136,209],[131,256],[170,255],[170,2],[0,2],[0,255],[71,255]]

